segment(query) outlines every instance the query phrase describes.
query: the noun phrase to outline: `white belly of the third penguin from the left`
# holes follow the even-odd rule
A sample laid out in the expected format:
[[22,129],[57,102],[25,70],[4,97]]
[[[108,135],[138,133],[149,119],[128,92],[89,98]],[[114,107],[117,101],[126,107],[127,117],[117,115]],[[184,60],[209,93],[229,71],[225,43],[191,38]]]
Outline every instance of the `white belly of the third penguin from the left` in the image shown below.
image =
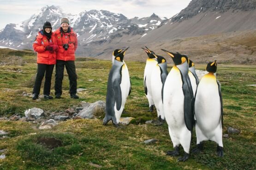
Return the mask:
[[157,111],[157,117],[161,116],[161,119],[165,119],[163,113],[163,102],[162,102],[162,81],[161,81],[161,70],[158,65],[152,70],[151,74],[151,87],[152,96]]

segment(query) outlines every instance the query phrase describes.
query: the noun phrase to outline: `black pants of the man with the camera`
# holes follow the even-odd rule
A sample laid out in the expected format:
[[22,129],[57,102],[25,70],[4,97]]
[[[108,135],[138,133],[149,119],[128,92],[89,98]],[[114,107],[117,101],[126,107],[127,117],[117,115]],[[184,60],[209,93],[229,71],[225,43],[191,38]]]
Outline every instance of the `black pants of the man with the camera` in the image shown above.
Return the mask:
[[70,94],[77,93],[77,74],[75,61],[57,60],[56,74],[55,74],[55,95],[62,94],[62,80],[64,73],[64,66],[66,67],[69,79],[69,92]]

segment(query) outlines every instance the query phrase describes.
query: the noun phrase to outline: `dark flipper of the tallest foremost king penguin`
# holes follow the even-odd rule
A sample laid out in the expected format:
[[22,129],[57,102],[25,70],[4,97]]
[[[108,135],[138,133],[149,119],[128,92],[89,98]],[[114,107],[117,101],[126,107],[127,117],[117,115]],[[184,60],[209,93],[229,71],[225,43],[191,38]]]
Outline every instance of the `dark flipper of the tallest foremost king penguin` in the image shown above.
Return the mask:
[[188,75],[182,77],[183,85],[182,90],[184,94],[184,119],[185,124],[188,130],[192,132],[193,129],[193,121],[194,121],[194,96],[192,91],[192,86]]

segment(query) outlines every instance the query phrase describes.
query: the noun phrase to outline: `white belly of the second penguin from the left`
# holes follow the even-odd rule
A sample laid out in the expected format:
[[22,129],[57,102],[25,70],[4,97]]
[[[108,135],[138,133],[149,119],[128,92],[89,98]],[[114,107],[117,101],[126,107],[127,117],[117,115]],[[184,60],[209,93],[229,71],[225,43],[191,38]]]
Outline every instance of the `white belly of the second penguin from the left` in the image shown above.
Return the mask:
[[[152,68],[155,67],[157,62],[154,59],[148,58],[145,66],[144,71],[144,86],[146,83],[147,86],[147,98],[149,100],[149,107],[151,105],[154,105],[153,97],[152,97],[152,87],[151,87],[151,74],[152,74]],[[146,81],[145,81],[146,79]]]

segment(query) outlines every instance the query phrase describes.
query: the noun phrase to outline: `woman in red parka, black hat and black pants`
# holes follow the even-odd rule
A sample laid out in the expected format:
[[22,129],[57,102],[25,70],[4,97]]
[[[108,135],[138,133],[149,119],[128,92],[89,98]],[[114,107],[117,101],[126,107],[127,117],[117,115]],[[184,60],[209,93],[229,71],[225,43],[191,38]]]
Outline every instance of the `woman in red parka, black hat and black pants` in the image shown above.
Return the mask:
[[44,98],[53,99],[53,96],[50,96],[51,79],[54,64],[56,64],[56,51],[59,50],[59,47],[55,37],[52,34],[51,23],[44,23],[43,29],[38,32],[36,40],[33,43],[33,49],[37,52],[37,74],[32,99],[38,99],[44,74]]

